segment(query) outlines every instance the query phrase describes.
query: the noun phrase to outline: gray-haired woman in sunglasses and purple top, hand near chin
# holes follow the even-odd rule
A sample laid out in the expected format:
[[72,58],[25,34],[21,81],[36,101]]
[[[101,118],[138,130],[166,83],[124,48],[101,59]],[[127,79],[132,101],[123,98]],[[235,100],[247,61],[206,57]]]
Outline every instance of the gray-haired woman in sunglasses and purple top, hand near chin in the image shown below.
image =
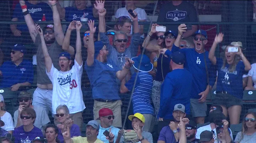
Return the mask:
[[[57,127],[59,128],[58,139],[61,143],[64,143],[64,138],[62,133],[67,130],[67,127],[70,128],[70,137],[78,137],[81,136],[81,131],[78,125],[73,124],[73,121],[69,118],[69,109],[64,105],[59,105],[56,108],[56,118],[58,119],[59,123]],[[55,123],[56,124],[56,123]]]

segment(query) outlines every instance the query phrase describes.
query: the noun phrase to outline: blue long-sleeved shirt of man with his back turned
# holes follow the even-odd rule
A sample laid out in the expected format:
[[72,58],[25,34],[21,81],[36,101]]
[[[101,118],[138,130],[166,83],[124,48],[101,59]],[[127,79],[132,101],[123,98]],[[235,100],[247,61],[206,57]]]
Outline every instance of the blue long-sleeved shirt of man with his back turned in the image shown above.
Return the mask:
[[183,104],[186,114],[190,115],[192,79],[193,76],[187,69],[175,69],[166,75],[161,86],[158,117],[173,119],[172,111],[178,103]]

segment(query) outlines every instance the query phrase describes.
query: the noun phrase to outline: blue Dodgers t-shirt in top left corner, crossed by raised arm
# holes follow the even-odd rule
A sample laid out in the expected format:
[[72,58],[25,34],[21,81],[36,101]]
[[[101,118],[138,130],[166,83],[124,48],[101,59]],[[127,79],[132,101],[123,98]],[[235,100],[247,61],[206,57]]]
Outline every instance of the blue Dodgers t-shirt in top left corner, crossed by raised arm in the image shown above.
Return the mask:
[[[45,14],[46,21],[53,21],[52,8],[47,3],[40,2],[39,4],[33,5],[26,2],[26,5],[34,22],[40,19],[42,20],[43,14]],[[15,6],[12,18],[18,18],[18,21],[25,21],[20,4]],[[17,29],[20,31],[28,31],[27,24],[18,24]]]

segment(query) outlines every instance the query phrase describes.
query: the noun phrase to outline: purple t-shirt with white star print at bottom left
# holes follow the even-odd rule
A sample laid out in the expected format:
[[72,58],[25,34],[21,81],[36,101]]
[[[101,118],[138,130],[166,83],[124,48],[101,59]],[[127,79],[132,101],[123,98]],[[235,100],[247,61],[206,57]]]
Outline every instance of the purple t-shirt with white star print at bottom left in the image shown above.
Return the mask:
[[31,141],[36,137],[43,137],[43,133],[40,128],[35,127],[26,132],[23,125],[14,129],[12,136],[15,138],[15,143],[31,143]]

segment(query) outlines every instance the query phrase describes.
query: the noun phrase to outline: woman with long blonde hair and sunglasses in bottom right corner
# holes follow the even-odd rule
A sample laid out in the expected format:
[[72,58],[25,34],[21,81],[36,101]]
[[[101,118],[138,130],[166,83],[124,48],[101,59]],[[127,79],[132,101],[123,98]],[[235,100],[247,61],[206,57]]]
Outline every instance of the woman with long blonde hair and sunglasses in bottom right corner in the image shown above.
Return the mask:
[[235,138],[235,143],[256,143],[256,115],[254,112],[249,112],[245,115],[242,122],[242,131],[238,132]]

